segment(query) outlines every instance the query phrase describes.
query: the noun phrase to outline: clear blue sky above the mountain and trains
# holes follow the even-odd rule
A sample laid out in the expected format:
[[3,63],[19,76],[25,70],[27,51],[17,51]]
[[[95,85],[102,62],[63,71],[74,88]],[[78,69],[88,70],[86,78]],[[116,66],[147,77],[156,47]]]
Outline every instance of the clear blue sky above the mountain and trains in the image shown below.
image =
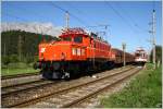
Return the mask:
[[65,12],[68,11],[70,27],[99,33],[113,48],[122,49],[122,43],[126,43],[128,52],[138,47],[151,49],[149,24],[154,9],[156,45],[162,45],[161,1],[2,1],[1,9],[2,23],[38,22],[54,26],[65,26]]

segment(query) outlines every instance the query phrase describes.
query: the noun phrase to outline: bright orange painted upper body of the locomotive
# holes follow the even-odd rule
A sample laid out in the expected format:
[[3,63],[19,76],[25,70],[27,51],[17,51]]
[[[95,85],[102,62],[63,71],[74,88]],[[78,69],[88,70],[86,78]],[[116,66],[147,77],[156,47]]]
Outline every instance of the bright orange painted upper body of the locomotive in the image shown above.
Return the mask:
[[[80,43],[75,43],[75,38],[80,37]],[[39,45],[40,61],[73,61],[87,60],[92,58],[103,58],[113,60],[111,45],[87,34],[66,33],[60,36],[60,41]]]

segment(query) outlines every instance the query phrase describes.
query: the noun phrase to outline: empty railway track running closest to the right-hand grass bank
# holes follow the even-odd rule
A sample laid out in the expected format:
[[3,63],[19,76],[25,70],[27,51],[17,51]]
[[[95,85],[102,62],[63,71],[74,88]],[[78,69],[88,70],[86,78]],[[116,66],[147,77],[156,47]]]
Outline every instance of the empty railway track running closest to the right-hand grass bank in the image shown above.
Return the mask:
[[64,92],[61,92],[60,94],[52,95],[50,98],[48,98],[48,100],[41,101],[30,107],[70,108],[73,106],[77,106],[77,104],[80,104],[86,99],[103,92],[104,89],[118,84],[120,82],[130,77],[138,71],[138,69],[135,69],[134,71],[131,71],[131,73],[130,71],[127,74],[123,72],[121,74],[118,73],[117,75],[99,78],[93,82],[79,85],[75,88],[68,88]]

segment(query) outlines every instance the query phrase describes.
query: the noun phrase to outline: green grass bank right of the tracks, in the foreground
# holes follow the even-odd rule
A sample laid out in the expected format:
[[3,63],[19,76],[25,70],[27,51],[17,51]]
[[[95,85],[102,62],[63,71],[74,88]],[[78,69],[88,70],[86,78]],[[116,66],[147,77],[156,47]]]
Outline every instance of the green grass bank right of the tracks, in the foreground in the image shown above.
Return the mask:
[[101,99],[104,108],[159,108],[162,105],[162,68],[147,69],[137,75],[122,92]]

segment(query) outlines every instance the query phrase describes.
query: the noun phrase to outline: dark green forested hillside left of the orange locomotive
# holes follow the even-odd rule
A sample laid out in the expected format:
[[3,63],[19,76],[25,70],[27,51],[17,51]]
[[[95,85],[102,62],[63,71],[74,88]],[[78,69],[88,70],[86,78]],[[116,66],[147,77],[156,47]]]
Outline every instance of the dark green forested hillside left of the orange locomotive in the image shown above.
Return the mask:
[[[2,63],[8,64],[17,61],[33,62],[35,56],[38,56],[38,45],[43,40],[58,40],[58,38],[22,31],[2,32]],[[18,56],[21,56],[21,60]]]

